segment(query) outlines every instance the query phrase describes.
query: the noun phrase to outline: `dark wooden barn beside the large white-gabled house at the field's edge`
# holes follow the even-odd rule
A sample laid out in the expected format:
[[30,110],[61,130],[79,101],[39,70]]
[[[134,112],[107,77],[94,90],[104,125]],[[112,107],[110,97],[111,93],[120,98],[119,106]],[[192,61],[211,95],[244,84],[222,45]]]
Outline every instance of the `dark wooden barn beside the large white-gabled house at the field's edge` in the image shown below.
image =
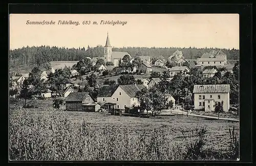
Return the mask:
[[66,98],[66,110],[68,111],[85,111],[83,104],[94,103],[96,100],[89,92],[73,92]]

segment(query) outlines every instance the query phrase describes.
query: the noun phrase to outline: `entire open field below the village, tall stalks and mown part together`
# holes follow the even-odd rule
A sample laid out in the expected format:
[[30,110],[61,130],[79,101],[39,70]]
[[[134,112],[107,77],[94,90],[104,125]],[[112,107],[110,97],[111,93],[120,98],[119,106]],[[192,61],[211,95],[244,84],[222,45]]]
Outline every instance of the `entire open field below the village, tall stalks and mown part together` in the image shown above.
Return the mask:
[[28,101],[37,103],[36,109],[19,108],[23,102],[10,103],[13,160],[185,160],[189,159],[187,143],[197,139],[187,134],[201,128],[207,130],[201,151],[208,153],[202,159],[228,159],[228,129],[234,127],[239,138],[238,122],[183,115],[140,118],[53,111],[45,100]]

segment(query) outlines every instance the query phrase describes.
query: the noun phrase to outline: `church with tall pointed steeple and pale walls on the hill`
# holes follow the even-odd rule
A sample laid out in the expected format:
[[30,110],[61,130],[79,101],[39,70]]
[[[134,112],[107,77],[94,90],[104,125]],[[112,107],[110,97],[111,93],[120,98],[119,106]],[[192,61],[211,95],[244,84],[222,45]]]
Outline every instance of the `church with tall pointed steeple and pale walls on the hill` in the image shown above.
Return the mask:
[[109,38],[109,33],[106,36],[106,44],[104,46],[104,61],[105,62],[113,62],[114,66],[119,65],[119,60],[122,59],[125,55],[129,55],[130,59],[132,59],[131,55],[127,52],[117,52],[117,51],[112,51],[112,46],[110,44],[110,38]]

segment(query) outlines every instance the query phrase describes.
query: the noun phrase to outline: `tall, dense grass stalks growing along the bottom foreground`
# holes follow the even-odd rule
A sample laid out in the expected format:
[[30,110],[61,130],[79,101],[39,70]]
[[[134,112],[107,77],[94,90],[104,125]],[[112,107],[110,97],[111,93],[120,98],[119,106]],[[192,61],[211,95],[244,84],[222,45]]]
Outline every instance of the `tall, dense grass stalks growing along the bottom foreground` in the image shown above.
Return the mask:
[[[191,130],[183,132],[182,143],[174,143],[168,138],[169,131],[164,130],[164,127],[131,135],[122,126],[104,124],[95,127],[84,120],[75,123],[65,111],[37,113],[26,109],[12,110],[9,126],[10,159],[211,160],[237,157],[237,153],[227,148],[206,148],[206,133],[191,136],[186,135]],[[234,143],[233,149],[236,150],[237,145]],[[191,152],[195,152],[194,155],[190,155]]]

